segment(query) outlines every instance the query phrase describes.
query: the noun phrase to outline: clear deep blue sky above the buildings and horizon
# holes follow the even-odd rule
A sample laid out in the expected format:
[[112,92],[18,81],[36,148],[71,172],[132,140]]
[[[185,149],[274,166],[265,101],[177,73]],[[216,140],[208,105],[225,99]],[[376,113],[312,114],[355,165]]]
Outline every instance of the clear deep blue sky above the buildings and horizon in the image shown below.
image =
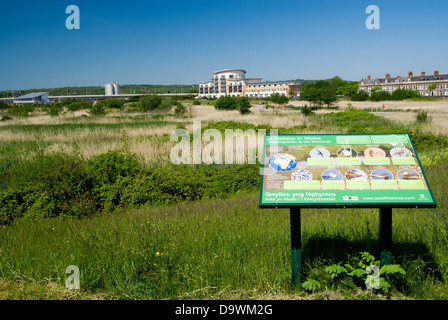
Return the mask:
[[[80,30],[68,30],[68,5]],[[368,30],[368,5],[380,29]],[[447,0],[8,1],[0,90],[448,73]]]

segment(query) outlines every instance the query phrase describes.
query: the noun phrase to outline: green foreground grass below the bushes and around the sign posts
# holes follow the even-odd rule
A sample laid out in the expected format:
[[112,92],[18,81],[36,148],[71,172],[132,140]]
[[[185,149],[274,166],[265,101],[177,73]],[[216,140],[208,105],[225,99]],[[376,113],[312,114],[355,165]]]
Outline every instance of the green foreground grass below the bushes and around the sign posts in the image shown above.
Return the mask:
[[[394,209],[393,259],[407,274],[392,297],[448,298],[448,188],[437,175],[442,169],[446,165],[427,172],[437,209]],[[20,221],[1,230],[0,243],[0,279],[10,286],[50,281],[59,292],[65,268],[76,265],[83,299],[263,299],[297,293],[291,286],[289,211],[259,209],[258,194],[89,219]],[[303,209],[302,247],[305,279],[361,251],[378,257],[378,210]],[[382,297],[360,297],[366,296]]]

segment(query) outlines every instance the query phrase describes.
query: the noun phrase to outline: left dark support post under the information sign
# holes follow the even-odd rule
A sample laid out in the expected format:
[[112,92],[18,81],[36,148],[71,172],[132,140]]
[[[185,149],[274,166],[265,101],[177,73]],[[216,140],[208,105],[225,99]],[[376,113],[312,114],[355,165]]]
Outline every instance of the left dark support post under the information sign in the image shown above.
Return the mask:
[[302,231],[300,224],[300,208],[290,208],[290,225],[292,283],[297,287],[302,279]]

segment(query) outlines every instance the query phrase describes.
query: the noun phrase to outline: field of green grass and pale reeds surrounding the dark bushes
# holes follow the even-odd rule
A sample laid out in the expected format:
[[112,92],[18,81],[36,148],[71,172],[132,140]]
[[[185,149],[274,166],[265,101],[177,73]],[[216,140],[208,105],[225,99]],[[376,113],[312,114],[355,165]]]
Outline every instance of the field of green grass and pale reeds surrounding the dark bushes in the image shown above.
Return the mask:
[[[34,115],[0,126],[0,174],[14,173],[36,152],[54,151],[87,160],[126,149],[151,168],[169,159],[172,130],[191,132],[193,120],[281,133],[418,129],[414,142],[438,206],[394,209],[393,263],[406,274],[390,279],[390,292],[371,292],[352,279],[333,281],[325,271],[338,263],[356,264],[360,252],[378,258],[378,210],[303,209],[303,280],[324,285],[297,289],[291,285],[289,211],[259,209],[257,186],[249,186],[219,198],[117,207],[86,218],[24,218],[0,226],[0,299],[447,299],[448,184],[440,174],[448,169],[446,137],[440,135],[446,123],[417,124],[412,112],[406,121],[375,116],[341,123],[326,113],[304,117],[254,108],[242,117],[201,105],[184,116]],[[69,265],[79,267],[80,290],[65,287]]]

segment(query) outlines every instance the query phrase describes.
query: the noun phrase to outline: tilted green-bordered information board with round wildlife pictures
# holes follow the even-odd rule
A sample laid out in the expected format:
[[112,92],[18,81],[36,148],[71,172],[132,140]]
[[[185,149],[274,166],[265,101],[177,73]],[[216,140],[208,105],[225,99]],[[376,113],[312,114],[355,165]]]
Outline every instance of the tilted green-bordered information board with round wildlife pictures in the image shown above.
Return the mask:
[[266,135],[260,207],[434,208],[409,134]]

